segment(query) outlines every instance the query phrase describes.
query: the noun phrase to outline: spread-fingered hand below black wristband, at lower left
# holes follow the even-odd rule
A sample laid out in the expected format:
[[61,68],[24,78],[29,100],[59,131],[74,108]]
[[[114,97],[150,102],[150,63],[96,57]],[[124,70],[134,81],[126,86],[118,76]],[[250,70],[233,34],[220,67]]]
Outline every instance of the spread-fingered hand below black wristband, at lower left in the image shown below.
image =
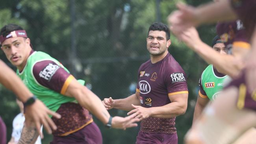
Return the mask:
[[48,116],[48,114],[56,117],[56,118],[61,118],[61,115],[58,113],[54,113],[53,111],[50,111],[43,102],[40,100],[36,100],[35,103],[32,105],[26,106],[26,112],[25,112],[25,124],[27,126],[30,126],[32,122],[35,123],[35,126],[37,128],[38,133],[42,135],[40,129],[41,129],[41,124],[45,127],[46,131],[51,134],[52,130],[56,130],[57,126],[54,124],[52,119]]

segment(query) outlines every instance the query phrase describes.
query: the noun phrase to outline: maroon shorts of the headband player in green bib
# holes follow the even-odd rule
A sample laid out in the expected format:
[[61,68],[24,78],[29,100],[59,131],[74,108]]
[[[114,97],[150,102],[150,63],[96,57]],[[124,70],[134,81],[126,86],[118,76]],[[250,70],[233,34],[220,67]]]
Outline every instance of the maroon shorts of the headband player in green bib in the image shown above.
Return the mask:
[[50,144],[102,144],[102,135],[98,126],[92,122],[67,136],[54,136]]

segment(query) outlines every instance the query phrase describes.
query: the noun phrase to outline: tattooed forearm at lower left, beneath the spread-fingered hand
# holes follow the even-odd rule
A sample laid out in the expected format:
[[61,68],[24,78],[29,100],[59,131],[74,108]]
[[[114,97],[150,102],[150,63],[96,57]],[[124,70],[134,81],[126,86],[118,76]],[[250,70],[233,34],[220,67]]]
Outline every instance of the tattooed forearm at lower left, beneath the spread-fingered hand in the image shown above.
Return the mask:
[[18,144],[34,144],[39,133],[35,126],[23,126]]

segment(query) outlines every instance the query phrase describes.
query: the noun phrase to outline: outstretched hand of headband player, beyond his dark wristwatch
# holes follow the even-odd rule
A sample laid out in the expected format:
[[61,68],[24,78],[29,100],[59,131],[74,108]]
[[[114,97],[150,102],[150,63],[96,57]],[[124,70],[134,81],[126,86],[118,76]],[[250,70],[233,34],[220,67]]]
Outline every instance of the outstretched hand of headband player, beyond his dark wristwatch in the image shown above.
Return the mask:
[[135,114],[126,116],[125,118],[120,116],[114,116],[112,118],[112,127],[124,130],[129,127],[137,127],[138,124],[136,124],[135,122],[139,122],[139,118],[135,118],[135,116]]

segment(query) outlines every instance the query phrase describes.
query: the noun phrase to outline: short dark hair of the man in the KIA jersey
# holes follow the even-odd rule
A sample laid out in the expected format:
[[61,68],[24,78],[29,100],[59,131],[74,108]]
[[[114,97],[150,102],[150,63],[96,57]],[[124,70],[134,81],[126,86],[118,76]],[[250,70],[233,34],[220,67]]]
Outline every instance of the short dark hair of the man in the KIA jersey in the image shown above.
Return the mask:
[[154,22],[153,24],[151,24],[148,29],[148,33],[149,31],[164,31],[166,33],[166,40],[168,41],[170,39],[170,30],[168,26],[161,22]]

